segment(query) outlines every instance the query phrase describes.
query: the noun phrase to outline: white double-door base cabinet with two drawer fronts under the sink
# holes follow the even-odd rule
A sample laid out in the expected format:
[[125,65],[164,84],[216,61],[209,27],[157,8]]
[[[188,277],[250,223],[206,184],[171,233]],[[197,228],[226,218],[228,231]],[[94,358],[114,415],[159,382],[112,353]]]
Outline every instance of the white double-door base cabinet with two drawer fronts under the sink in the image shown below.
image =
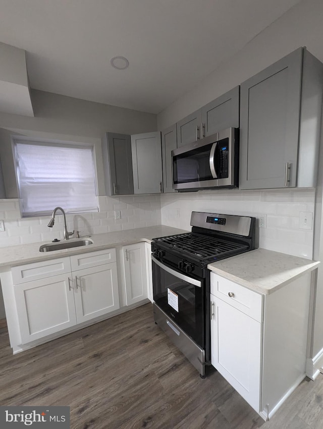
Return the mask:
[[22,344],[119,308],[115,249],[52,261],[12,268]]

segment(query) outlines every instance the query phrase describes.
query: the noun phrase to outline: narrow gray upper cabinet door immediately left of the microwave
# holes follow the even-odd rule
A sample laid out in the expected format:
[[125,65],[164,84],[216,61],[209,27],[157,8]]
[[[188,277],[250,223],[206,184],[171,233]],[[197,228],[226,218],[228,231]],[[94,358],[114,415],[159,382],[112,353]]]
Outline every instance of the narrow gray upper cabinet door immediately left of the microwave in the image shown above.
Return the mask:
[[173,168],[171,152],[177,148],[176,124],[161,131],[161,154],[163,155],[163,192],[173,189]]

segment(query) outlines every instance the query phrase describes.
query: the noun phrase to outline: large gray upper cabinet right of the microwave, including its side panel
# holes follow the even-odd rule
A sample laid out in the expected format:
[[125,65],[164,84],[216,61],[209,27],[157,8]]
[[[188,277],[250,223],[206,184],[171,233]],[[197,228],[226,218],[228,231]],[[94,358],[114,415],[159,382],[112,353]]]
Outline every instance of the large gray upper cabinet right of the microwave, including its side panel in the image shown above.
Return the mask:
[[241,189],[316,184],[322,64],[299,48],[241,84]]

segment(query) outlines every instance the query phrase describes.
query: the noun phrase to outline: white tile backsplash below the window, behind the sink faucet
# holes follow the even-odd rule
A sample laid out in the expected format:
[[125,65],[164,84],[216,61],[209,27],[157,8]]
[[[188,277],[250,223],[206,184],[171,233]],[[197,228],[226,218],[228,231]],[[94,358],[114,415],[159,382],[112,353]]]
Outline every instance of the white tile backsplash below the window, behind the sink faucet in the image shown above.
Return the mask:
[[[66,215],[68,231],[80,231],[82,236],[161,223],[159,194],[99,196],[98,204],[99,212]],[[115,219],[115,210],[120,210],[121,219]],[[18,199],[0,199],[0,220],[4,220],[5,226],[5,231],[0,232],[0,247],[64,238],[60,211],[57,212],[55,225],[48,228],[50,216],[21,218]]]

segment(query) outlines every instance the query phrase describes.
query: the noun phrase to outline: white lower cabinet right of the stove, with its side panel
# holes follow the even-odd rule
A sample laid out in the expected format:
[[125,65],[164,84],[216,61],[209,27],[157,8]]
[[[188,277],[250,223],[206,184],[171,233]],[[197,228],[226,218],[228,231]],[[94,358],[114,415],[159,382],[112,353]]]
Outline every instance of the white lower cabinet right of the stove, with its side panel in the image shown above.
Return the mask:
[[311,274],[268,294],[210,274],[211,363],[270,418],[306,376]]

